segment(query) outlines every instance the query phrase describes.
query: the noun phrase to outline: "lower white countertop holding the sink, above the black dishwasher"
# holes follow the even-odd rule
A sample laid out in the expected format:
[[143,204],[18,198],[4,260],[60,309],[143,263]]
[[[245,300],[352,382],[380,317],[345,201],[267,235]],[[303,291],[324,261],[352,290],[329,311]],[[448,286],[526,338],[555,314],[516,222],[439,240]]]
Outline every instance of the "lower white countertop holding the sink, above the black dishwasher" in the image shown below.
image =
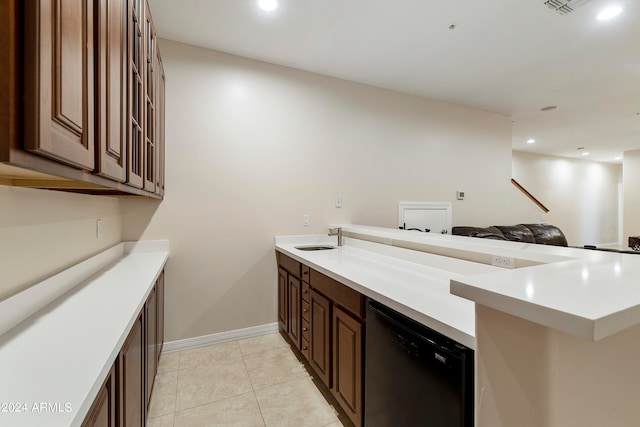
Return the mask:
[[[407,232],[409,233],[409,232]],[[332,250],[296,246],[336,244],[336,237],[276,237],[276,249],[412,319],[475,349],[471,301],[451,295],[449,281],[499,270],[485,264],[345,238]]]

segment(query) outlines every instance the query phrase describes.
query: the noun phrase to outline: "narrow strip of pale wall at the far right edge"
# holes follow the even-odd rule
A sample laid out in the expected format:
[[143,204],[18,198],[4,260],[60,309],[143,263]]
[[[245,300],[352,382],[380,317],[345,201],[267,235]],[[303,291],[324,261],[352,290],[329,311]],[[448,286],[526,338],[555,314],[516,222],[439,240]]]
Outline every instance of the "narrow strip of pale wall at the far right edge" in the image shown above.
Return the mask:
[[640,150],[625,151],[623,160],[623,245],[629,236],[640,236]]

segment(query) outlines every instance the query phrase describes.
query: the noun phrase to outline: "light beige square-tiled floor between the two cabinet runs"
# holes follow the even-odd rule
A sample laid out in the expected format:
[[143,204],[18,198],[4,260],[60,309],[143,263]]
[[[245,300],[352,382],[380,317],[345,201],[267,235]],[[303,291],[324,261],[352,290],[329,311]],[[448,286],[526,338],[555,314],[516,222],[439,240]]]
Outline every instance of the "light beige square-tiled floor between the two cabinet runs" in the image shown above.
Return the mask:
[[148,427],[342,427],[279,333],[160,357]]

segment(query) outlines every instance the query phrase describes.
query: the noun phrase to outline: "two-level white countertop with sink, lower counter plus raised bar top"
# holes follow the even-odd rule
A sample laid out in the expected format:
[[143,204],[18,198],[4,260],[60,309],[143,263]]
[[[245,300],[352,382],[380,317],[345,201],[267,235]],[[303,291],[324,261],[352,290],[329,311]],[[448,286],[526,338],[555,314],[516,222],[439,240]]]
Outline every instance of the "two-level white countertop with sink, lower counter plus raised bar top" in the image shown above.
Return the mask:
[[[454,330],[454,339],[465,338],[460,332],[474,336],[472,302],[588,340],[640,324],[640,255],[360,225],[342,228],[347,243],[333,255],[303,253],[278,240],[276,247],[427,326]],[[424,258],[421,251],[437,258]],[[514,259],[516,268],[487,265],[493,255]],[[460,264],[447,264],[455,261]],[[459,298],[445,298],[443,289]]]

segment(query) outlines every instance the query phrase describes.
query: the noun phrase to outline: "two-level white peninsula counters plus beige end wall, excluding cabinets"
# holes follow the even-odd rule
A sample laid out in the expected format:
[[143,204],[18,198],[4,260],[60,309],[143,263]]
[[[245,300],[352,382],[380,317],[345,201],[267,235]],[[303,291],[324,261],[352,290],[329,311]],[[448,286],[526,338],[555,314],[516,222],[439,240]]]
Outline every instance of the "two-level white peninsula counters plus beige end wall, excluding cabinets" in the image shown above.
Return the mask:
[[640,256],[342,228],[341,248],[276,250],[474,348],[477,426],[640,422]]

